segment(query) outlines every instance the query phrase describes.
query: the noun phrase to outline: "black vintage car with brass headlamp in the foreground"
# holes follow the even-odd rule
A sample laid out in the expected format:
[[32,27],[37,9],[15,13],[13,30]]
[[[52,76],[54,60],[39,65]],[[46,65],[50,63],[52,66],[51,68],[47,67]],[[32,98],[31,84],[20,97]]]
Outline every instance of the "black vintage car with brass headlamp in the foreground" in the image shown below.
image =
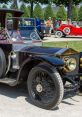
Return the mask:
[[[82,58],[71,48],[28,46],[20,38],[10,37],[6,28],[7,13],[20,17],[17,10],[0,9],[0,83],[16,86],[26,83],[33,104],[44,109],[56,108],[64,93],[79,88]],[[18,18],[13,29],[19,34]]]

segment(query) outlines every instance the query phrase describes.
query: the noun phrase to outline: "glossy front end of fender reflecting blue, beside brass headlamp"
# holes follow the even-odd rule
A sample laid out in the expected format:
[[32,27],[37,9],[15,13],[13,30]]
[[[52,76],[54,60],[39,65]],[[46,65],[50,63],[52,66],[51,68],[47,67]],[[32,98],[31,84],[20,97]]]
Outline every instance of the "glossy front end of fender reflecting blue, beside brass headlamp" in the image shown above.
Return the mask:
[[63,66],[64,65],[64,61],[57,57],[50,57],[50,56],[42,55],[42,56],[35,56],[32,59],[41,60],[41,61],[47,62],[54,66]]

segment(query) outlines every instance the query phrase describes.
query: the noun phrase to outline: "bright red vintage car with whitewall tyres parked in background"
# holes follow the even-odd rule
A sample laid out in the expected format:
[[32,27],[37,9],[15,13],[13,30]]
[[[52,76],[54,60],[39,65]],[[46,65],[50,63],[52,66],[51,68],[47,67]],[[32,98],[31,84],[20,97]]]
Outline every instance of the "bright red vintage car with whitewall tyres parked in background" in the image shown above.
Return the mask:
[[55,36],[58,38],[66,36],[82,36],[82,27],[79,27],[75,23],[73,24],[61,24],[55,29]]

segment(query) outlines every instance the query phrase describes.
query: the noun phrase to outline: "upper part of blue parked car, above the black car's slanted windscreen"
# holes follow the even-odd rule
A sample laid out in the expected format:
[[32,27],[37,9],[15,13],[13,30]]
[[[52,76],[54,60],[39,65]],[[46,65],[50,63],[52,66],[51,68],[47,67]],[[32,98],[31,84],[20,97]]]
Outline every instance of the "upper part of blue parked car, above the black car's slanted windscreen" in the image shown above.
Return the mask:
[[35,30],[36,33],[39,35],[39,37],[43,40],[44,38],[44,33],[42,31],[42,20],[41,19],[35,19],[35,18],[20,18],[20,24],[19,24],[19,29],[20,30],[27,30],[33,31]]

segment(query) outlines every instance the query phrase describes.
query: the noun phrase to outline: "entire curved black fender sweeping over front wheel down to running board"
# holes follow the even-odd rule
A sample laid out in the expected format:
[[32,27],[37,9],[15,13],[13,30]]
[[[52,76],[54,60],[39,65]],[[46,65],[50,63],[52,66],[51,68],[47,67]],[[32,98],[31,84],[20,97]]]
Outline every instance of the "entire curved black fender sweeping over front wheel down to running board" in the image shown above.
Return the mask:
[[[57,58],[57,57],[51,57],[51,56],[47,56],[47,55],[29,57],[21,65],[20,70],[19,70],[18,75],[17,75],[17,82],[16,82],[15,85],[18,84],[18,82],[20,80],[20,77],[21,77],[22,70],[25,67],[25,65],[28,66],[27,68],[31,67],[31,65],[29,63],[32,63],[32,61],[37,61],[36,65],[38,65],[40,62],[49,63],[49,64],[51,64],[54,67],[58,67],[58,66],[63,66],[64,65],[64,61],[59,59],[59,58]],[[38,63],[38,61],[39,61],[39,63]]]

